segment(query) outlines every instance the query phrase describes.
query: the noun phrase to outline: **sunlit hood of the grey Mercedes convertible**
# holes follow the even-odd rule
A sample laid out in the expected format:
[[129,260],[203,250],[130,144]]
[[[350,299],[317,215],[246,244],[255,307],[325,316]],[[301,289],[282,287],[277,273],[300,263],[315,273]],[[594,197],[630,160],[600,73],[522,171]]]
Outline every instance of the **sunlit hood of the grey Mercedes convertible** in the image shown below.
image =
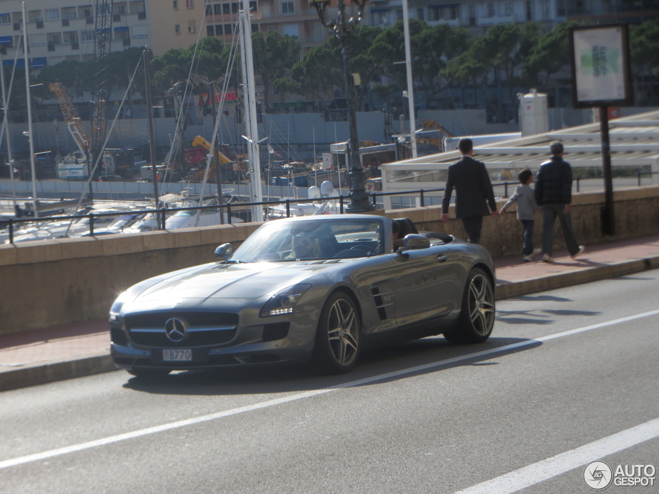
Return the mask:
[[279,287],[302,283],[306,277],[319,270],[329,269],[332,265],[335,263],[208,264],[183,272],[177,271],[170,277],[159,277],[153,285],[140,292],[134,302],[186,298],[259,298]]

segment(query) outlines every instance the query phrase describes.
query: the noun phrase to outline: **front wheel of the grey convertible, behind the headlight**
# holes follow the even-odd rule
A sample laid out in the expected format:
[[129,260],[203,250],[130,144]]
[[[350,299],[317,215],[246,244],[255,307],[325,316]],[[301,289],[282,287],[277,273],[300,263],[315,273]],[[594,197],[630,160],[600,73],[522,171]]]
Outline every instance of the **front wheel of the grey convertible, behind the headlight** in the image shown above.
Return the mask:
[[357,364],[360,350],[361,324],[357,307],[347,294],[335,292],[320,312],[313,364],[322,373],[345,373]]

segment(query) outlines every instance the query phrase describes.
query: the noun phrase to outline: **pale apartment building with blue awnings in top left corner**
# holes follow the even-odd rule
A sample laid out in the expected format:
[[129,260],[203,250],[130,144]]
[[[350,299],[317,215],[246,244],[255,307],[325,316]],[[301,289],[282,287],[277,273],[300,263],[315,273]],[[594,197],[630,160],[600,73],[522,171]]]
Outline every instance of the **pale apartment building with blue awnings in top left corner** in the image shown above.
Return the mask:
[[[94,33],[98,16],[90,0],[31,0],[26,3],[26,33],[30,67],[38,69],[65,60],[94,58]],[[110,5],[110,3],[106,3]],[[150,44],[144,0],[114,1],[111,12],[111,51]],[[0,0],[0,48],[3,63],[24,65],[22,49],[23,13],[19,0]],[[18,48],[20,47],[20,48]]]

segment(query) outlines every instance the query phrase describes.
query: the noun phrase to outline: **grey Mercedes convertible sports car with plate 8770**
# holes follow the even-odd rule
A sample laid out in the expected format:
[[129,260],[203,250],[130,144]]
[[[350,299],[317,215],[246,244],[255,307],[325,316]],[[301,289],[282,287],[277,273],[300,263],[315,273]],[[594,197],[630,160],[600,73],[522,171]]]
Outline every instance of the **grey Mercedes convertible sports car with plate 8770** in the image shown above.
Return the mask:
[[478,343],[492,332],[488,252],[418,234],[409,219],[279,219],[232,251],[223,244],[216,262],[119,295],[110,310],[115,364],[149,377],[299,361],[341,373],[376,344],[439,334]]

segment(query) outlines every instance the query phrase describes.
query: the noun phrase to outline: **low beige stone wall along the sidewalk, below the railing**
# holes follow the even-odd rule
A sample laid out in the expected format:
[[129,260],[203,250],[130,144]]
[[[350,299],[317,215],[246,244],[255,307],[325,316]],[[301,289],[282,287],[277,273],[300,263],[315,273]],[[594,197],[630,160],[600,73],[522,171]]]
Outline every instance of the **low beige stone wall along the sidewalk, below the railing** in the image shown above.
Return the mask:
[[[605,236],[600,225],[604,194],[573,196],[573,227],[581,244],[598,244],[659,232],[659,187],[614,193],[616,234]],[[499,207],[503,205],[501,201]],[[444,227],[440,207],[387,211],[409,217],[420,231],[438,231],[464,238],[460,221]],[[451,217],[453,211],[451,211]],[[540,215],[534,242],[540,246]],[[125,288],[167,271],[213,261],[216,246],[237,247],[258,223],[198,229],[119,234],[98,238],[61,238],[0,246],[0,333],[25,331],[107,315]],[[495,258],[521,256],[522,228],[511,207],[503,217],[483,220],[482,244]],[[558,229],[555,248],[563,246]]]

